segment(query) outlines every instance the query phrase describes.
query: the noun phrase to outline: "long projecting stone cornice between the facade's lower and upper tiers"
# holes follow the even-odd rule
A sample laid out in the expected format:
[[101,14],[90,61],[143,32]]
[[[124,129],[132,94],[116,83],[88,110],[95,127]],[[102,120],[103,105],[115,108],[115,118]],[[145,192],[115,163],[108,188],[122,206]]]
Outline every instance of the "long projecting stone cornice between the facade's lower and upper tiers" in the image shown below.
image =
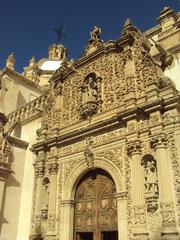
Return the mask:
[[[177,99],[176,99],[177,101]],[[39,152],[40,150],[47,150],[53,146],[65,146],[74,141],[78,141],[78,139],[83,139],[88,136],[99,134],[100,132],[110,131],[110,129],[117,129],[121,126],[127,124],[127,121],[131,119],[138,119],[140,116],[146,115],[149,117],[149,114],[154,111],[154,109],[158,109],[159,111],[164,111],[167,107],[164,105],[165,102],[163,99],[159,99],[158,101],[154,101],[150,104],[145,104],[144,106],[135,107],[133,109],[125,110],[121,113],[116,113],[114,116],[111,116],[106,120],[99,120],[98,122],[87,125],[84,128],[76,128],[72,129],[72,131],[64,134],[58,134],[57,136],[52,136],[51,138],[44,140],[42,142],[38,142],[34,144],[31,148],[33,152]],[[175,106],[173,106],[175,107]],[[127,133],[129,134],[129,133]]]

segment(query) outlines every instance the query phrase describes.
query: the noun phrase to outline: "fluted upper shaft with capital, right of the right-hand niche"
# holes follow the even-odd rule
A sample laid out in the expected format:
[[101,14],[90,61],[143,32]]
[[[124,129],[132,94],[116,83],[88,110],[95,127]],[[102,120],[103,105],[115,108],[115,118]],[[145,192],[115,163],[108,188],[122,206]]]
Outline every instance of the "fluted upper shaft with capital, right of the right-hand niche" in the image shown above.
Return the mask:
[[164,133],[157,134],[151,138],[151,145],[157,154],[157,171],[159,183],[160,202],[173,201],[172,179],[170,159],[168,159],[167,138]]

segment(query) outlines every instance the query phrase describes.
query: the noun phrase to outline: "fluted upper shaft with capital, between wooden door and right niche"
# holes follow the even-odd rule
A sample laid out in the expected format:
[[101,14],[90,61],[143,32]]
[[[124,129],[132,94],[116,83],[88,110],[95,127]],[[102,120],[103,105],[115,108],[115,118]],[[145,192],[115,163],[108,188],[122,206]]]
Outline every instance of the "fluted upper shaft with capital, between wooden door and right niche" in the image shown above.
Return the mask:
[[141,143],[139,140],[128,143],[128,154],[131,156],[132,198],[134,205],[145,204],[144,177],[141,166]]

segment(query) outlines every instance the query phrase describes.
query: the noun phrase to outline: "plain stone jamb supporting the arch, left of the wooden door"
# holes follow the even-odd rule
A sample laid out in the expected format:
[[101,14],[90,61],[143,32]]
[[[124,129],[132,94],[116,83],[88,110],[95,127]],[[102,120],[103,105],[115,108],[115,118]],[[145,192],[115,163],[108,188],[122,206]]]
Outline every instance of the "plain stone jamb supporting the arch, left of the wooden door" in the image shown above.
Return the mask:
[[73,223],[74,223],[74,205],[73,200],[64,200],[61,202],[62,211],[62,239],[73,239]]

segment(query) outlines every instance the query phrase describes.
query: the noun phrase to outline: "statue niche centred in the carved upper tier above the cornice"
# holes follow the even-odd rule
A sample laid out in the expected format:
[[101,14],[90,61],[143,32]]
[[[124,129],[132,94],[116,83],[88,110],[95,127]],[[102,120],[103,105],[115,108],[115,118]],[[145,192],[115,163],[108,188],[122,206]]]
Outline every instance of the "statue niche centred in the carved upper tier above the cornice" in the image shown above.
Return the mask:
[[81,86],[82,104],[80,113],[83,119],[91,117],[100,109],[101,104],[101,78],[90,73]]

